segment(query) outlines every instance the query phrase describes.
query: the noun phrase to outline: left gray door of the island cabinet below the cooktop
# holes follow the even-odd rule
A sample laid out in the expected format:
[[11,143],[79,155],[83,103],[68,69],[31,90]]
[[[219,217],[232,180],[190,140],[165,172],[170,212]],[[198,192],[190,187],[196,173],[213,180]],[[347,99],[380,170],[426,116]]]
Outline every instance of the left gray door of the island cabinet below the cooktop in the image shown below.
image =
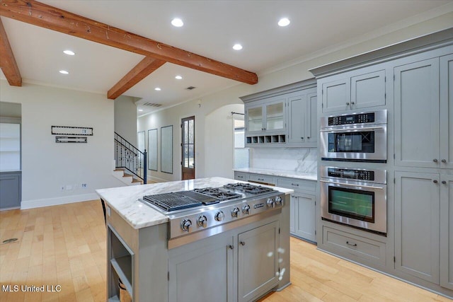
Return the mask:
[[213,236],[178,249],[168,259],[168,302],[235,301],[233,236]]

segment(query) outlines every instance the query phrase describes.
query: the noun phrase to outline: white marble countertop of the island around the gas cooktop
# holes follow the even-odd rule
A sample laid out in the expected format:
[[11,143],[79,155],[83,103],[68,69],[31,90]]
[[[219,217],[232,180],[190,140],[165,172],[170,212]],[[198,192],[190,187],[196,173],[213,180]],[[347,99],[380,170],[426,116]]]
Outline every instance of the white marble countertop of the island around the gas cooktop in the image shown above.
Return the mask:
[[[187,191],[200,187],[222,187],[232,182],[241,181],[229,178],[199,178],[195,180],[159,182],[151,185],[113,187],[96,190],[96,193],[105,201],[106,206],[116,211],[130,226],[139,229],[168,222],[166,215],[139,201],[139,198],[144,195]],[[285,194],[294,192],[282,187],[272,188]]]

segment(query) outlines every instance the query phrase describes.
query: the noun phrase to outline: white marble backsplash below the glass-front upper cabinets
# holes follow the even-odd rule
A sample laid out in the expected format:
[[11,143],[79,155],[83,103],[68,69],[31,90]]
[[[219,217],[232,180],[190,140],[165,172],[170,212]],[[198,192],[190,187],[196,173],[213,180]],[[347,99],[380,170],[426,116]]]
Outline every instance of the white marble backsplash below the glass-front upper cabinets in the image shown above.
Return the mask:
[[250,152],[250,167],[316,173],[316,150],[316,148],[253,148]]

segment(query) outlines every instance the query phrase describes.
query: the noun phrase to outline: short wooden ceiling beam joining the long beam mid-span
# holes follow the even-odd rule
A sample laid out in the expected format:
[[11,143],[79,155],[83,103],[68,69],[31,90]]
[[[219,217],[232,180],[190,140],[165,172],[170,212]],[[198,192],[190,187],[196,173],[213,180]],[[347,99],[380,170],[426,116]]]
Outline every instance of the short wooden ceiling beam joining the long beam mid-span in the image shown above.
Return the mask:
[[107,98],[115,100],[115,98],[125,93],[129,88],[137,84],[142,79],[146,78],[151,72],[164,65],[165,61],[154,59],[151,57],[145,57],[142,61],[137,64],[131,71],[118,81],[107,93]]

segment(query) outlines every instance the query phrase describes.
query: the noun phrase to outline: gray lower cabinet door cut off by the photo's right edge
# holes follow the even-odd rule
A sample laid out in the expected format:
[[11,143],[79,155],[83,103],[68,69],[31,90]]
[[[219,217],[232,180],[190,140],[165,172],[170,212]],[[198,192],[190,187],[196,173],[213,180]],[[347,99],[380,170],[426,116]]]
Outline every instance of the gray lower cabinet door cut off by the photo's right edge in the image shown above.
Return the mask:
[[440,180],[440,285],[453,290],[453,175]]

